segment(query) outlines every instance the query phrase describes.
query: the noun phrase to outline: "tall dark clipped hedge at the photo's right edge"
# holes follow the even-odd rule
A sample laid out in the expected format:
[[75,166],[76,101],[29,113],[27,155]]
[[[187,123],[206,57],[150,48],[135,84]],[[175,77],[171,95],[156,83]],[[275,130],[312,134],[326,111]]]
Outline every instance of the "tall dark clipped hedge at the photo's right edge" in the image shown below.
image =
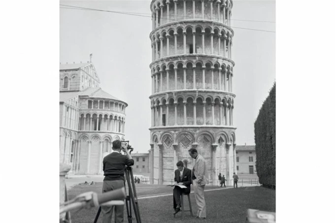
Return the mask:
[[255,121],[256,170],[261,185],[276,186],[276,83]]

